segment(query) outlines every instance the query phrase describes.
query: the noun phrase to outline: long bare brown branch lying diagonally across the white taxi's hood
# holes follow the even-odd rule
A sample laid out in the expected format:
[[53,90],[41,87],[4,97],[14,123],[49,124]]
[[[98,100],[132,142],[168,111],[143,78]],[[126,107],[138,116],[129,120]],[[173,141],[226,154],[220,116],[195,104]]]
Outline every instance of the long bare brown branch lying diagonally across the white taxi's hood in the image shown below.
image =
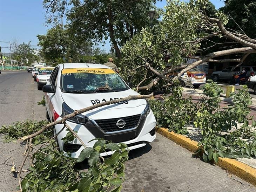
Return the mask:
[[121,99],[118,99],[118,100],[112,100],[112,101],[107,101],[107,102],[103,102],[103,103],[99,103],[99,104],[96,104],[96,105],[92,105],[90,107],[86,107],[86,108],[83,108],[83,109],[80,109],[80,110],[76,110],[74,111],[73,113],[71,114],[68,114],[66,116],[64,116],[62,119],[58,120],[58,121],[54,121],[52,123],[48,123],[47,125],[45,125],[42,129],[40,129],[39,131],[31,134],[31,135],[27,135],[27,136],[24,136],[22,137],[21,139],[23,140],[27,140],[27,139],[30,139],[30,138],[33,138],[37,135],[39,135],[40,133],[42,133],[43,131],[49,129],[51,126],[53,125],[57,125],[57,124],[61,124],[61,123],[65,123],[65,121],[71,117],[74,117],[76,115],[79,115],[83,112],[86,112],[86,111],[90,111],[90,110],[93,110],[93,109],[96,109],[96,108],[99,108],[99,107],[102,107],[102,106],[105,106],[105,105],[110,105],[110,104],[115,104],[115,103],[119,103],[119,102],[122,102],[122,101],[129,101],[129,100],[137,100],[137,99],[146,99],[146,98],[150,98],[153,96],[153,93],[149,94],[149,95],[130,95],[128,97],[124,97],[124,98],[121,98]]

